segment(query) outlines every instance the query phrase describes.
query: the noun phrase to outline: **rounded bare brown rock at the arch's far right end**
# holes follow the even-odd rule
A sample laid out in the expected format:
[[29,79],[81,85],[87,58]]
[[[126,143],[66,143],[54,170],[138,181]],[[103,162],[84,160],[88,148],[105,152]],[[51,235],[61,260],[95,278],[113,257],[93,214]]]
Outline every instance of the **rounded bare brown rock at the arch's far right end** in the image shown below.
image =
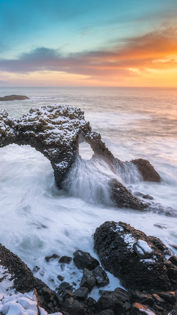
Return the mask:
[[131,162],[137,166],[140,174],[143,176],[143,180],[160,182],[160,175],[149,161],[139,158],[137,160],[131,160]]

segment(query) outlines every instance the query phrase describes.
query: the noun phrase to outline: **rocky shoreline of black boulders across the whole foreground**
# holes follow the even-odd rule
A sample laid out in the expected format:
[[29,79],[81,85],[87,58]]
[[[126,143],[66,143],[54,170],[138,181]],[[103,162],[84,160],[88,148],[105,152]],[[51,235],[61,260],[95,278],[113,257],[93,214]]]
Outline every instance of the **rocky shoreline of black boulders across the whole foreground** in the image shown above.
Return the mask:
[[[62,256],[59,259],[56,254],[45,258],[46,261],[59,259],[64,264],[73,259],[75,267],[83,270],[78,289],[74,288],[74,283],[67,283],[58,276],[61,283],[53,291],[42,280],[35,278],[17,255],[0,245],[3,271],[0,297],[3,305],[8,303],[9,295],[17,296],[20,293],[24,299],[24,294],[33,292],[30,296],[35,294],[38,314],[42,315],[177,314],[177,256],[165,259],[170,252],[160,239],[146,236],[126,223],[107,221],[94,233],[94,249],[105,270],[96,258],[82,250],[75,251],[73,258]],[[35,268],[37,266],[34,273]],[[106,271],[119,278],[127,291],[122,288],[104,290],[104,286],[109,284]],[[101,288],[98,301],[88,297],[95,286]]]

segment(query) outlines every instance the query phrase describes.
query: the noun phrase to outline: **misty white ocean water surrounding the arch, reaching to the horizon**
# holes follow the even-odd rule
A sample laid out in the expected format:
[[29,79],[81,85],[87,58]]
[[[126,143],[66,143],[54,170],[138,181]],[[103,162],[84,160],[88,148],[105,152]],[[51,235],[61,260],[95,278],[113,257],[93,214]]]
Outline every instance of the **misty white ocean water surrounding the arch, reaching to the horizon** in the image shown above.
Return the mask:
[[[143,182],[135,169],[117,170],[117,178],[132,192],[153,196],[150,212],[117,209],[109,204],[108,177],[115,177],[103,161],[92,161],[91,149],[82,144],[83,160],[76,161],[66,182],[67,192],[54,185],[49,160],[30,146],[9,145],[0,149],[0,242],[33,269],[52,289],[57,275],[77,283],[82,271],[73,263],[64,268],[54,253],[73,256],[77,249],[93,250],[93,234],[105,221],[130,223],[147,235],[160,238],[177,255],[177,89],[175,88],[0,88],[0,96],[26,95],[30,100],[1,102],[10,116],[21,117],[31,107],[51,104],[78,106],[94,131],[122,161],[144,158],[162,178]],[[85,160],[85,158],[87,158]],[[158,205],[158,206],[156,206]],[[166,209],[173,209],[173,216]],[[161,211],[159,211],[161,209]],[[154,225],[162,225],[158,228]],[[62,268],[62,269],[61,269]],[[73,275],[72,272],[76,272]],[[108,273],[106,289],[120,286]],[[90,294],[99,298],[98,289]]]

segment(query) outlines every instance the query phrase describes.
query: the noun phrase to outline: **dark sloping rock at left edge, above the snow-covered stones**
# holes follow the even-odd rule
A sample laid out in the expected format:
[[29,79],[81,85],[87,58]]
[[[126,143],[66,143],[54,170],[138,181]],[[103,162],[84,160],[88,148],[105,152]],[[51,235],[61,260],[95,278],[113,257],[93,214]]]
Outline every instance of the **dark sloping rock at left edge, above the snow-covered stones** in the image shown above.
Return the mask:
[[[14,279],[13,289],[16,289],[18,292],[30,292],[33,288],[36,288],[37,291],[43,287],[49,287],[42,282],[41,280],[33,276],[32,271],[27,265],[21,261],[21,259],[10,252],[9,249],[5,248],[0,244],[0,261],[1,265],[7,268],[7,272],[12,274],[11,280]],[[4,273],[6,278],[6,272]],[[2,280],[1,280],[2,281]],[[7,292],[8,294],[8,292]]]

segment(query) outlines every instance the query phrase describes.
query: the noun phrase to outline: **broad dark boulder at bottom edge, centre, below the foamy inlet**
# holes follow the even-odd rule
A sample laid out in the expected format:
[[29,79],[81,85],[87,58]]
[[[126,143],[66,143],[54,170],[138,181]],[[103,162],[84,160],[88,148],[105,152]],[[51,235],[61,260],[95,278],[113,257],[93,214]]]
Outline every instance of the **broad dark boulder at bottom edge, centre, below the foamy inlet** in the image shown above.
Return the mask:
[[115,315],[125,313],[125,305],[114,293],[102,295],[97,302],[97,308],[99,311],[110,309]]

